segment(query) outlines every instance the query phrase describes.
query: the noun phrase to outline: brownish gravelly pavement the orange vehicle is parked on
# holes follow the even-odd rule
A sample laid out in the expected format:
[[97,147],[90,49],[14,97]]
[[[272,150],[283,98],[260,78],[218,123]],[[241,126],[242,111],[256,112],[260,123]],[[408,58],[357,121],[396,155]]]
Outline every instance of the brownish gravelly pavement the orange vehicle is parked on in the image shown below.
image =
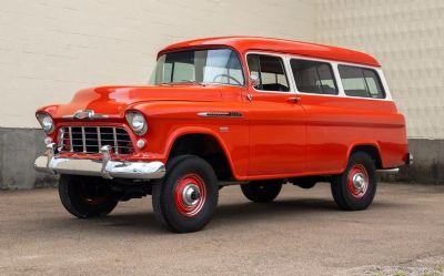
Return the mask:
[[363,212],[339,211],[323,183],[272,204],[230,186],[210,225],[181,235],[150,200],[82,221],[56,190],[0,192],[0,275],[443,275],[443,186],[382,184]]

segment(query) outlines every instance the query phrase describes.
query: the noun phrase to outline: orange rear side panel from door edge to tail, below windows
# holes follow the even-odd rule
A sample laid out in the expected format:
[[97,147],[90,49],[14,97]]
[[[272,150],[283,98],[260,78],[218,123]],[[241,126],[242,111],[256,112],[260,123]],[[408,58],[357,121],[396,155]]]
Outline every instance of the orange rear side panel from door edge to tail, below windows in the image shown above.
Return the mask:
[[375,146],[384,168],[404,164],[405,120],[393,101],[300,96],[307,117],[307,171],[342,172],[356,145]]

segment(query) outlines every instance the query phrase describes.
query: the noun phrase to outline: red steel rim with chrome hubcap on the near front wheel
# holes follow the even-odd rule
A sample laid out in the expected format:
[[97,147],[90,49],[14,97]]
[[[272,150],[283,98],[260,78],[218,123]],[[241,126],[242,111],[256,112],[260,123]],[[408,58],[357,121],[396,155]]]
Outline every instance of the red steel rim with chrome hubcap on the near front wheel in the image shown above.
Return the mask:
[[206,198],[206,187],[196,174],[186,174],[180,178],[174,188],[174,204],[180,214],[193,217],[201,212]]

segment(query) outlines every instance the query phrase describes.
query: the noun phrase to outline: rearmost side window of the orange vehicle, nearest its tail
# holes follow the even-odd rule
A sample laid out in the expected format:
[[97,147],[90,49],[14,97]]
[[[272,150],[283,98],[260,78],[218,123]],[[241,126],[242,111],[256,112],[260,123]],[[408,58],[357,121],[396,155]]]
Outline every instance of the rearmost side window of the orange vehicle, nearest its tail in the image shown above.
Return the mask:
[[346,95],[384,99],[385,92],[375,70],[339,65],[342,85]]

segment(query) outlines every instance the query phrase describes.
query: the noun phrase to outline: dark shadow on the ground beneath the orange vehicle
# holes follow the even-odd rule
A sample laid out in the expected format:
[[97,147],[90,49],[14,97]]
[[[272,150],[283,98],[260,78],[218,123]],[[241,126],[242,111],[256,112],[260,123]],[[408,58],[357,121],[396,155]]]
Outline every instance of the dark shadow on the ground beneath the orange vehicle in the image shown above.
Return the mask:
[[[392,205],[393,203],[390,202],[374,202],[371,208],[392,208]],[[311,218],[316,216],[325,218],[325,215],[336,215],[335,213],[337,212],[344,213],[344,211],[337,208],[332,200],[319,198],[279,200],[266,204],[252,202],[228,203],[218,206],[211,225],[249,225],[265,222],[270,217],[274,219],[289,217],[292,219],[297,219],[299,217],[305,219],[307,213],[310,213]],[[145,235],[148,233],[167,233],[152,212],[129,213],[120,211],[114,214],[111,213],[107,217],[93,219],[78,219],[65,214],[63,218],[51,218],[47,223],[56,227],[61,227],[62,225],[63,229],[100,232],[102,234],[114,233],[121,235],[122,233],[130,233],[131,235]]]

